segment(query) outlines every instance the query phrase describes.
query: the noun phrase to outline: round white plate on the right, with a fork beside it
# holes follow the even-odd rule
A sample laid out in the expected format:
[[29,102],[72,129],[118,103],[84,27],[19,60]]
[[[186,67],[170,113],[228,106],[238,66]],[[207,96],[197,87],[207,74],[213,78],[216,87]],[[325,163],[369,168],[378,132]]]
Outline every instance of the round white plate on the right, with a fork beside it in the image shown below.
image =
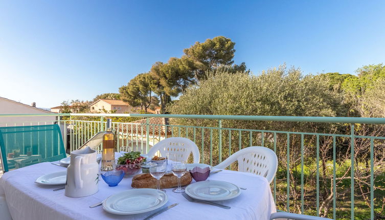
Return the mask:
[[230,200],[241,194],[238,186],[218,180],[196,182],[188,185],[185,191],[194,199],[206,201]]

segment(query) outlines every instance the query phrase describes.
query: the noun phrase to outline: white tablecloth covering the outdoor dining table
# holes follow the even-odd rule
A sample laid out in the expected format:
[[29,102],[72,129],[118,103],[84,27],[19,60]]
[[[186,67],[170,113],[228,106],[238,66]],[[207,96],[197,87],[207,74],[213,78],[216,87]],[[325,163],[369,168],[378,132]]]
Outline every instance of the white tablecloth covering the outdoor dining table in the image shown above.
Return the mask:
[[[53,191],[59,186],[47,186],[35,183],[43,174],[65,170],[64,167],[50,163],[40,163],[4,173],[0,178],[0,195],[5,194],[13,220],[40,219],[143,219],[151,211],[135,215],[114,215],[103,210],[102,206],[89,208],[111,194],[131,189],[131,179],[124,178],[116,187],[109,187],[100,178],[99,192],[86,197],[66,197],[64,190]],[[223,170],[213,174],[208,180],[222,180],[245,187],[235,199],[220,201],[231,209],[188,202],[180,193],[167,189],[172,209],[155,216],[153,219],[269,219],[270,213],[276,212],[273,196],[267,180],[251,173]],[[194,182],[194,180],[193,180]],[[1,214],[0,214],[1,218]]]

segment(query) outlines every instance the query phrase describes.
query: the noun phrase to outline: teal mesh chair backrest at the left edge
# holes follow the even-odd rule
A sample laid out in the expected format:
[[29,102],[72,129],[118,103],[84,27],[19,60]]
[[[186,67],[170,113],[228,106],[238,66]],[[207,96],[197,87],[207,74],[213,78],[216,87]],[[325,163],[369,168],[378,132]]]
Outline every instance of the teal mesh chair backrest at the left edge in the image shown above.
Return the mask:
[[66,157],[57,124],[0,127],[0,152],[5,172]]

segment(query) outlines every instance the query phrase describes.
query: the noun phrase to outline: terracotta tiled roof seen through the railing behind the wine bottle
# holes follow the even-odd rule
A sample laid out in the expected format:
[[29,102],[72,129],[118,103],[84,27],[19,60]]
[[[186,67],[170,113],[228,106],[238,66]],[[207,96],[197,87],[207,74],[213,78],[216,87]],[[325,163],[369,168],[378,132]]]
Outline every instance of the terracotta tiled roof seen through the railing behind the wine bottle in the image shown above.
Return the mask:
[[[138,121],[132,121],[130,123],[133,123],[132,126],[130,124],[122,125],[117,128],[119,132],[123,132],[124,134],[130,135],[142,135],[142,127],[143,127],[143,135],[146,135],[146,119],[141,119]],[[159,126],[159,125],[168,125],[168,118],[149,118],[149,135],[151,136],[158,136],[159,135],[159,129],[161,129],[161,136],[165,136],[166,134],[166,126]],[[132,129],[131,129],[132,127]],[[171,135],[170,127],[167,127],[167,135]]]

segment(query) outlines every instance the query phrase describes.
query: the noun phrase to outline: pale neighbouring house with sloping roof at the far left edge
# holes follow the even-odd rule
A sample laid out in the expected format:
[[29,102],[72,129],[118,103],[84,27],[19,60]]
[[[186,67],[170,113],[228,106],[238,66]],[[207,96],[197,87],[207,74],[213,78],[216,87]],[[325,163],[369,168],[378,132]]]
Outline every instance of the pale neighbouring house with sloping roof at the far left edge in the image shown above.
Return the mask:
[[[32,105],[23,104],[17,101],[0,97],[0,114],[53,114],[50,111],[37,108],[36,103]],[[56,120],[56,116],[41,117],[0,117],[0,126],[21,126],[21,125],[37,125],[47,123],[52,124]]]

